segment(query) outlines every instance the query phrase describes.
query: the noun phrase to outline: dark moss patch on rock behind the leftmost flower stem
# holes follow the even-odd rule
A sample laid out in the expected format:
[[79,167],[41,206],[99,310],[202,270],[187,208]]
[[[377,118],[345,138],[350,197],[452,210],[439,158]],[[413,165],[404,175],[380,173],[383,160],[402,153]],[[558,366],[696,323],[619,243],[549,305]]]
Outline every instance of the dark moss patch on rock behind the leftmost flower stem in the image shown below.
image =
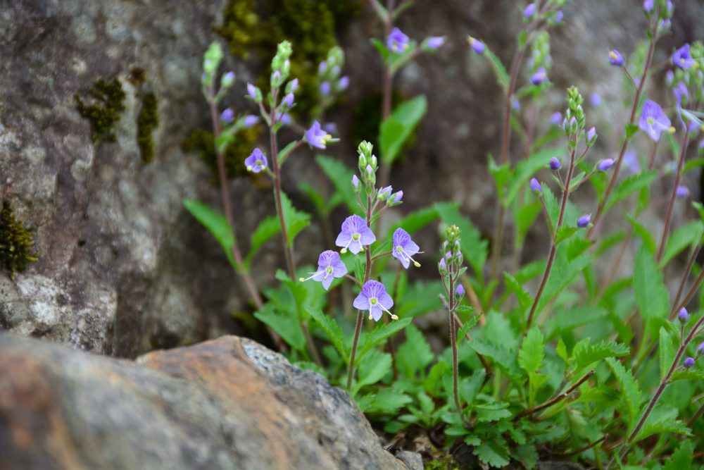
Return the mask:
[[[253,126],[241,129],[234,135],[232,143],[225,150],[225,173],[227,173],[228,179],[244,176],[248,173],[244,159],[251,153],[260,134],[260,126]],[[213,170],[213,174],[218,174],[218,156],[215,154],[213,132],[203,129],[194,130],[181,144],[181,148],[183,151],[196,152]]]

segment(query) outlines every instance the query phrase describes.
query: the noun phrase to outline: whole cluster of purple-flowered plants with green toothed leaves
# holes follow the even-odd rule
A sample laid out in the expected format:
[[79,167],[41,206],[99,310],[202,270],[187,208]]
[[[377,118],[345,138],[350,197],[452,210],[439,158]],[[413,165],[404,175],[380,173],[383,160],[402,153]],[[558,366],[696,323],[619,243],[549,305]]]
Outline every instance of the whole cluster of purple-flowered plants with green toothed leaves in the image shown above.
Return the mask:
[[[343,51],[332,47],[318,65],[314,81],[321,93],[309,116],[291,113],[301,85],[292,75],[289,42],[277,46],[268,92],[243,87],[256,109],[251,114],[221,109],[235,76],[218,73],[223,52],[217,43],[204,57],[223,213],[192,200],[184,205],[222,245],[272,343],[294,363],[344,387],[390,439],[410,431],[429,436],[428,468],[446,465],[440,462],[448,462],[450,447],[495,468],[535,468],[541,459],[599,469],[701,464],[704,269],[697,260],[704,206],[686,204],[691,190],[682,178],[704,166],[703,45],[672,51],[667,103],[650,99],[646,86],[658,40],[670,30],[672,2],[643,1],[646,38],[631,57],[616,49],[604,54],[622,71],[630,101],[622,113],[614,110],[622,114],[623,131],[602,130],[617,133],[613,154],[597,144],[587,113],[604,106],[601,97],[590,94],[585,101],[570,87],[564,109],[546,104],[550,31],[565,23],[564,0],[524,7],[508,68],[487,44],[468,37],[505,97],[501,151],[488,164],[497,202],[491,244],[451,202],[432,202],[382,223],[403,202],[403,190],[389,184],[393,164],[427,108],[422,95],[392,106],[396,73],[419,54],[441,49],[445,38],[415,42],[396,27],[410,1],[396,8],[394,2],[389,8],[369,4],[384,27],[383,38],[372,39],[383,65],[379,156],[367,140],[357,147],[354,170],[316,156],[332,194],[299,183],[325,233],[327,246],[317,264],[310,260],[313,266],[296,266],[294,240],[312,216],[284,192],[282,168],[301,147],[319,151],[337,143],[325,112],[351,86],[342,73]],[[241,226],[228,194],[225,151],[238,132],[259,122],[268,129],[268,147],[239,159],[246,171],[270,178],[276,211],[243,244],[235,235]],[[284,126],[296,138],[279,147]],[[516,139],[520,149],[512,148]],[[629,149],[635,142],[648,146],[647,155]],[[691,158],[690,147],[699,155]],[[655,182],[669,194],[658,237],[642,217],[658,206],[650,197]],[[575,200],[577,193],[582,197]],[[608,233],[602,222],[611,212],[627,225]],[[520,264],[527,234],[540,223],[549,234],[546,257]],[[439,249],[419,247],[415,233],[433,225],[443,239]],[[257,286],[254,261],[274,237],[285,268],[275,274],[275,285]],[[631,247],[634,266],[619,277]],[[436,263],[436,280],[410,279],[411,265],[422,262]],[[668,285],[677,285],[677,292]],[[438,312],[446,315],[449,338],[439,352],[413,324]]]

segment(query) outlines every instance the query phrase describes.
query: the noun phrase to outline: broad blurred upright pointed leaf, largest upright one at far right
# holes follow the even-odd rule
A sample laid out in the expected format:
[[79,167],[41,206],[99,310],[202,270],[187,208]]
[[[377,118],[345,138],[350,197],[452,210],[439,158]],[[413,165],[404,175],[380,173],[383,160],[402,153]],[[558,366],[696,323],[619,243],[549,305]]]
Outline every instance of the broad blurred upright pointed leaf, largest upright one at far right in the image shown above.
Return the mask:
[[655,319],[667,318],[670,295],[662,280],[662,273],[646,247],[641,246],[636,254],[633,288],[636,291],[636,304],[646,323],[653,324]]

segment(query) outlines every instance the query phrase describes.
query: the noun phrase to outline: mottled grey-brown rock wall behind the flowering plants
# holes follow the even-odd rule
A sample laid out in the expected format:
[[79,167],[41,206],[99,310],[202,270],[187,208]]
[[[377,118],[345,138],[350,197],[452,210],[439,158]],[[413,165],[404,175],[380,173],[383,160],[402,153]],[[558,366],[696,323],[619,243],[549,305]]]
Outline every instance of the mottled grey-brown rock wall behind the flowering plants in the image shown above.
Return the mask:
[[[291,8],[294,3],[308,9]],[[348,8],[337,12],[345,21],[336,20],[329,8],[327,16],[320,13],[322,4]],[[466,36],[484,40],[508,63],[524,5],[509,0],[418,1],[398,20],[398,27],[413,39],[446,35],[448,44],[437,54],[421,56],[395,81],[400,97],[426,94],[429,107],[414,146],[391,173],[391,184],[404,190],[406,202],[390,219],[431,202],[454,201],[490,237],[494,188],[486,154],[498,153],[504,101],[489,66],[472,55]],[[235,6],[239,9],[232,10]],[[673,34],[660,42],[656,64],[667,61],[674,47],[702,39],[704,4],[676,1],[675,6]],[[279,11],[278,20],[270,18],[272,8]],[[181,204],[189,197],[220,205],[214,174],[199,157],[199,141],[193,134],[208,129],[200,92],[203,51],[213,40],[226,44],[222,35],[227,36],[227,28],[222,27],[227,18],[250,22],[251,30],[260,32],[260,37],[239,39],[241,51],[252,54],[225,59],[227,68],[237,73],[226,104],[239,112],[253,112],[244,100],[244,85],[259,80],[268,61],[258,55],[257,44],[272,42],[277,35],[286,37],[282,24],[323,15],[320,23],[298,28],[303,32],[301,44],[291,39],[294,51],[310,49],[310,57],[317,49],[325,50],[320,44],[335,39],[346,53],[344,73],[351,85],[328,116],[337,124],[341,142],[327,154],[354,166],[360,134],[374,128],[381,106],[381,66],[369,38],[381,35],[382,25],[368,4],[0,0],[0,11],[0,199],[37,228],[39,251],[39,261],[14,279],[0,274],[0,327],[124,357],[222,333],[242,333],[232,313],[251,311],[246,292],[213,237]],[[548,127],[551,113],[564,108],[569,85],[577,85],[585,97],[601,94],[603,106],[586,109],[588,124],[596,125],[601,136],[590,157],[596,161],[615,150],[617,135],[611,130],[622,128],[622,102],[629,99],[619,70],[608,65],[608,49],[630,54],[645,35],[646,18],[640,2],[625,0],[574,1],[564,12],[565,25],[552,31],[550,78],[555,86],[536,113],[536,124],[539,132]],[[252,16],[255,13],[259,20]],[[276,24],[279,30],[272,29]],[[324,27],[332,27],[335,37],[322,34]],[[311,61],[308,68],[315,66]],[[655,74],[655,85],[662,84],[662,73],[664,69]],[[525,73],[521,76],[526,80]],[[115,142],[105,137],[95,140],[89,120],[76,106],[75,94],[86,97],[99,78],[118,79],[125,92],[125,109],[113,128]],[[662,87],[648,93],[666,101]],[[151,160],[139,139],[144,135],[140,116],[149,94],[156,97],[158,113],[158,125],[149,129]],[[531,112],[524,109],[522,118],[527,120]],[[375,140],[374,135],[363,137]],[[253,144],[257,138],[253,132],[243,142]],[[287,132],[282,132],[282,141],[286,139]],[[261,144],[264,141],[260,138]],[[646,144],[645,138],[637,137],[633,148],[645,151]],[[239,154],[241,160],[249,154],[248,147],[237,149],[246,152]],[[522,158],[517,138],[512,149],[513,161]],[[241,174],[241,169],[233,167],[231,190],[237,233],[246,245],[248,234],[273,213],[274,206],[267,183]],[[305,149],[284,167],[284,191],[296,206],[313,212],[297,190],[301,180],[331,188],[313,153]],[[667,183],[665,178],[662,184]],[[698,182],[686,183],[699,197]],[[648,220],[656,228],[657,189]],[[578,204],[589,211],[593,197],[589,190],[585,194]],[[333,225],[337,227],[344,216],[335,212]],[[610,223],[622,221],[616,216]],[[438,246],[434,228],[419,237],[427,258],[433,259]],[[543,256],[546,240],[543,226],[536,224],[524,259]],[[326,248],[320,225],[314,223],[296,242],[298,264],[312,263]],[[268,243],[256,265],[253,274],[259,285],[275,283],[275,268],[284,265],[279,240]],[[413,275],[435,276],[432,265],[426,262]],[[628,259],[624,266],[631,266]]]

